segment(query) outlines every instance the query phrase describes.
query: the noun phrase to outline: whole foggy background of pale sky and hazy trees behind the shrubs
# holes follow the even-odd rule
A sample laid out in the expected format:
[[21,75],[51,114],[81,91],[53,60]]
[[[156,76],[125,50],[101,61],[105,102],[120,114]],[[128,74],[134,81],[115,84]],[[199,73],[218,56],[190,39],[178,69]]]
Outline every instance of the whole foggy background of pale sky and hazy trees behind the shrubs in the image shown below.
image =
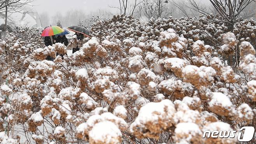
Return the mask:
[[[140,2],[152,2],[153,0],[136,0],[137,4]],[[159,16],[157,10],[151,12],[151,14],[145,14],[145,9],[143,2],[137,5],[136,9],[133,7],[135,0],[128,0],[126,15],[132,14],[135,18],[141,21],[148,21],[150,17],[158,18]],[[169,17],[172,15],[174,18],[180,17],[198,17],[199,12],[189,8],[188,0],[162,0],[165,5],[162,18]],[[209,0],[196,0],[197,5],[206,10],[209,13],[215,14],[216,11],[212,9]],[[120,14],[119,0],[34,0],[30,3],[30,7],[33,9],[33,14],[26,15],[23,22],[19,24],[26,24],[26,26],[35,27],[35,23],[40,23],[40,26],[36,27],[46,27],[50,25],[56,25],[57,22],[63,27],[68,27],[72,25],[78,25],[85,27],[90,27],[97,19],[110,18],[115,14]],[[154,7],[156,8],[156,7]],[[254,3],[249,5],[248,10],[253,9],[255,11]],[[244,10],[247,12],[248,10]],[[148,11],[150,13],[150,10]],[[123,11],[122,11],[123,14]],[[12,16],[12,21],[21,19],[23,14],[10,14]],[[30,19],[37,19],[37,21],[30,22]],[[39,20],[40,19],[40,20]],[[40,21],[40,22],[38,22]],[[0,15],[0,23],[4,23],[4,19]],[[30,23],[30,24],[29,24]],[[18,25],[19,25],[18,24]],[[16,23],[17,25],[17,23]]]

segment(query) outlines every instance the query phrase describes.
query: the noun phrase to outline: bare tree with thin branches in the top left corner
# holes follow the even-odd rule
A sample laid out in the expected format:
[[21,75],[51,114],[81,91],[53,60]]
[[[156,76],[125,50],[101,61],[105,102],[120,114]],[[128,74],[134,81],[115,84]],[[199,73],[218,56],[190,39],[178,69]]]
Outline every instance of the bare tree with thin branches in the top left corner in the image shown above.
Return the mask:
[[8,13],[21,12],[21,7],[33,0],[0,0],[0,14],[5,17],[5,30],[7,28]]

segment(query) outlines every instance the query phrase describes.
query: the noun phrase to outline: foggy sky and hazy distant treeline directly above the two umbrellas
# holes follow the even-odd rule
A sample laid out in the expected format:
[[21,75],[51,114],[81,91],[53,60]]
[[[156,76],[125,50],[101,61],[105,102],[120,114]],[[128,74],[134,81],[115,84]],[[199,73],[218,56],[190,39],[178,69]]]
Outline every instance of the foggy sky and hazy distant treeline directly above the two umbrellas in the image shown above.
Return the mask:
[[[117,14],[118,0],[35,0],[32,5],[40,15],[42,27],[56,25],[77,25],[80,21],[90,21],[91,17],[102,18]],[[91,23],[90,23],[91,24]],[[84,24],[89,26],[90,24]]]

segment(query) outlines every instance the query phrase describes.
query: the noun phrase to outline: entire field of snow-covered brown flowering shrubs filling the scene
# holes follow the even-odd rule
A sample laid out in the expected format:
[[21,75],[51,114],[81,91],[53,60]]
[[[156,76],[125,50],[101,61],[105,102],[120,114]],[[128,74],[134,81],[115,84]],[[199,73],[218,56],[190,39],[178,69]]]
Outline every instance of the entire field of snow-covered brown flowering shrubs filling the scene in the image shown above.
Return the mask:
[[202,139],[202,132],[255,125],[255,24],[240,21],[228,33],[204,17],[142,24],[115,15],[67,47],[46,47],[27,29],[7,33],[0,39],[0,141],[17,143],[23,132],[25,143],[235,143]]

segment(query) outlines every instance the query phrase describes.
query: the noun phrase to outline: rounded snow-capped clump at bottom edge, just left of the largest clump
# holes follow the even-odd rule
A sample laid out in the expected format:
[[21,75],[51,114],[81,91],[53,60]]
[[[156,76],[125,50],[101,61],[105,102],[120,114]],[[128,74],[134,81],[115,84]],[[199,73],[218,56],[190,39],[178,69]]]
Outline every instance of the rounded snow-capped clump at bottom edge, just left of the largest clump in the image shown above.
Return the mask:
[[81,123],[76,129],[79,139],[89,139],[93,144],[117,144],[121,142],[122,133],[127,123],[112,113],[103,113],[89,117],[86,123]]

